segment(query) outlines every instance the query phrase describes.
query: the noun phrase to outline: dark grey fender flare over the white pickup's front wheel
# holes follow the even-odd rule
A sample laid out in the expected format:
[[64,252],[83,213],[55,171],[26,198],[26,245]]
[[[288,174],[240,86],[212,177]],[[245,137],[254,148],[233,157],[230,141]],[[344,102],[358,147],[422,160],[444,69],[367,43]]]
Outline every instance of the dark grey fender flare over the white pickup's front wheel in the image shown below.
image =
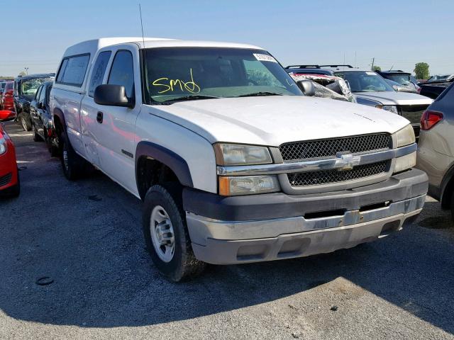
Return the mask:
[[135,149],[135,181],[138,189],[140,188],[140,185],[138,183],[138,162],[141,157],[149,157],[151,159],[155,159],[158,162],[161,162],[175,173],[177,179],[180,183],[182,183],[183,186],[193,188],[194,185],[192,183],[192,176],[191,172],[189,171],[189,166],[182,157],[180,157],[172,150],[162,147],[161,145],[157,145],[153,142],[143,141],[139,142],[137,148]]

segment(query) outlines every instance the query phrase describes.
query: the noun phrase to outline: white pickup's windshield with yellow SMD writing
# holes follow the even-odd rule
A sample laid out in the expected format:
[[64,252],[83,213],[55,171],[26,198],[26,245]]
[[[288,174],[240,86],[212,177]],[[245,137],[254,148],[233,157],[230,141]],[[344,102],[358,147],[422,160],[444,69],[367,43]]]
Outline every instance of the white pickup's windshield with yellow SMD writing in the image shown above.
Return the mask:
[[263,50],[169,47],[145,50],[145,103],[203,98],[302,95]]

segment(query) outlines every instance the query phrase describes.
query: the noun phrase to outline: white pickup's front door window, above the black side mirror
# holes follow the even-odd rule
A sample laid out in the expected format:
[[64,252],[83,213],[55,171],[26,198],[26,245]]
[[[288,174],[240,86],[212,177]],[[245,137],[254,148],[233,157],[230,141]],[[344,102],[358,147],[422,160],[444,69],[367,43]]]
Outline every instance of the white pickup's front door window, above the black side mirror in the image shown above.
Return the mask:
[[134,68],[131,52],[126,50],[116,52],[107,84],[125,86],[126,96],[129,99],[132,98],[134,94]]

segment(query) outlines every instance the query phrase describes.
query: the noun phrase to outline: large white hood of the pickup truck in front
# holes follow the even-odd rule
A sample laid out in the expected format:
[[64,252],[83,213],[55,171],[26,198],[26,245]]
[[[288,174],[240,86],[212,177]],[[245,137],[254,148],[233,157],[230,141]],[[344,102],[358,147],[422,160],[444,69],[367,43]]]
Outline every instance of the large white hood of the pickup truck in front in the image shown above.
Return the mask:
[[393,133],[409,121],[378,108],[328,98],[262,96],[144,106],[209,142],[279,146],[284,142]]

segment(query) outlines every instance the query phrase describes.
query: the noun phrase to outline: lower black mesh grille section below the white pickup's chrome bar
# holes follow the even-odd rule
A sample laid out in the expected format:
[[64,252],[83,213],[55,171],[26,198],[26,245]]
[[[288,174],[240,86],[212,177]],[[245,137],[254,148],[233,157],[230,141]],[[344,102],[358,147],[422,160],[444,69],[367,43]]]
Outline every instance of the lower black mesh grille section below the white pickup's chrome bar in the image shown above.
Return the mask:
[[388,171],[389,162],[391,161],[358,165],[348,171],[311,171],[299,172],[297,174],[287,174],[287,176],[289,177],[291,186],[316,186],[321,184],[338,183],[383,174]]

